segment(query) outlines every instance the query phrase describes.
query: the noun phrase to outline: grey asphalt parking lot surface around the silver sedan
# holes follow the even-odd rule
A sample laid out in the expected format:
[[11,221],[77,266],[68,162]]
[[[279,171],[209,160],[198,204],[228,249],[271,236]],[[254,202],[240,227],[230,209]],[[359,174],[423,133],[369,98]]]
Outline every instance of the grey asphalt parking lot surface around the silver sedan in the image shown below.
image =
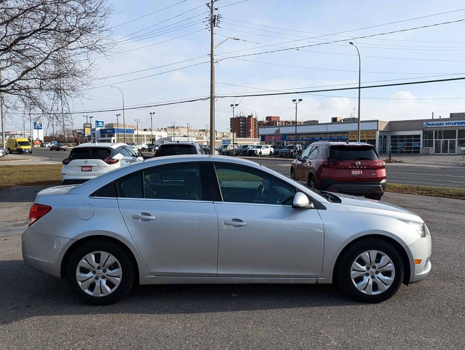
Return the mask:
[[[0,221],[30,205],[10,198],[0,192]],[[377,305],[326,285],[167,285],[88,306],[64,280],[24,264],[20,235],[1,237],[0,348],[464,349],[464,202],[394,193],[383,200],[426,221],[433,268]],[[11,207],[18,209],[4,214]]]

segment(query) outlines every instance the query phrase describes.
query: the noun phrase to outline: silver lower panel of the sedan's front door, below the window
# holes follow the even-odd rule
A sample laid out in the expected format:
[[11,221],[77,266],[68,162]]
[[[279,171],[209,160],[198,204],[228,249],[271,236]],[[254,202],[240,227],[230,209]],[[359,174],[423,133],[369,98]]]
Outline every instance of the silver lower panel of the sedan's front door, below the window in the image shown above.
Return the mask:
[[215,209],[218,277],[321,275],[324,232],[317,210],[228,202],[215,202]]

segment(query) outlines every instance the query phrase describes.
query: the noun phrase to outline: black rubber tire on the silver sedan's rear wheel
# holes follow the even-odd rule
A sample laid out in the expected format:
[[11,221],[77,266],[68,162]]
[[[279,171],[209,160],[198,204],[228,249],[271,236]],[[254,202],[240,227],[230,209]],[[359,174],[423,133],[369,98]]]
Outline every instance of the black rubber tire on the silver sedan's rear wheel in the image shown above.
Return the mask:
[[[100,266],[99,264],[102,263],[100,259],[105,257],[102,254],[110,256],[107,259],[104,258],[106,260],[112,257],[114,260],[112,259],[111,262],[113,263],[104,262],[104,265]],[[89,260],[91,261],[89,262]],[[84,266],[95,269],[87,269]],[[107,269],[104,267],[107,267]],[[79,273],[82,276],[81,282],[77,280],[78,268],[80,268]],[[116,271],[117,269],[120,271],[120,277],[116,277],[118,272],[109,272],[111,270]],[[89,278],[83,279],[87,277],[86,275],[89,275]],[[71,290],[87,303],[107,305],[115,303],[128,294],[134,284],[135,266],[127,250],[120,244],[109,240],[89,241],[78,246],[71,253],[66,269],[66,279]],[[92,282],[86,283],[91,280]],[[103,281],[105,281],[104,284],[102,284]],[[87,292],[84,290],[86,287]],[[104,295],[106,294],[105,292],[108,294]],[[98,296],[93,295],[97,293],[99,294]]]

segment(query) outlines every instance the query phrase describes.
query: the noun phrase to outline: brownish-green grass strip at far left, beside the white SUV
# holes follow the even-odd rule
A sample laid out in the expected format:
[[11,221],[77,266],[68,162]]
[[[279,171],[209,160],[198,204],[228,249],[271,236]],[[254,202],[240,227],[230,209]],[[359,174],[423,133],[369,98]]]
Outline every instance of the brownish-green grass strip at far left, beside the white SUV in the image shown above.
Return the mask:
[[2,165],[0,188],[61,185],[61,164]]

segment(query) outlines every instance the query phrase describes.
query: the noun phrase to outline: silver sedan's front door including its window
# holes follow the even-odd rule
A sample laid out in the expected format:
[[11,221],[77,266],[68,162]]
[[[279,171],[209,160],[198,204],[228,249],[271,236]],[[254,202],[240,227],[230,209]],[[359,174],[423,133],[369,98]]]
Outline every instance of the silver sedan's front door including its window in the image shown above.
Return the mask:
[[265,172],[215,164],[218,277],[318,277],[324,248],[316,209],[293,209],[295,188]]

